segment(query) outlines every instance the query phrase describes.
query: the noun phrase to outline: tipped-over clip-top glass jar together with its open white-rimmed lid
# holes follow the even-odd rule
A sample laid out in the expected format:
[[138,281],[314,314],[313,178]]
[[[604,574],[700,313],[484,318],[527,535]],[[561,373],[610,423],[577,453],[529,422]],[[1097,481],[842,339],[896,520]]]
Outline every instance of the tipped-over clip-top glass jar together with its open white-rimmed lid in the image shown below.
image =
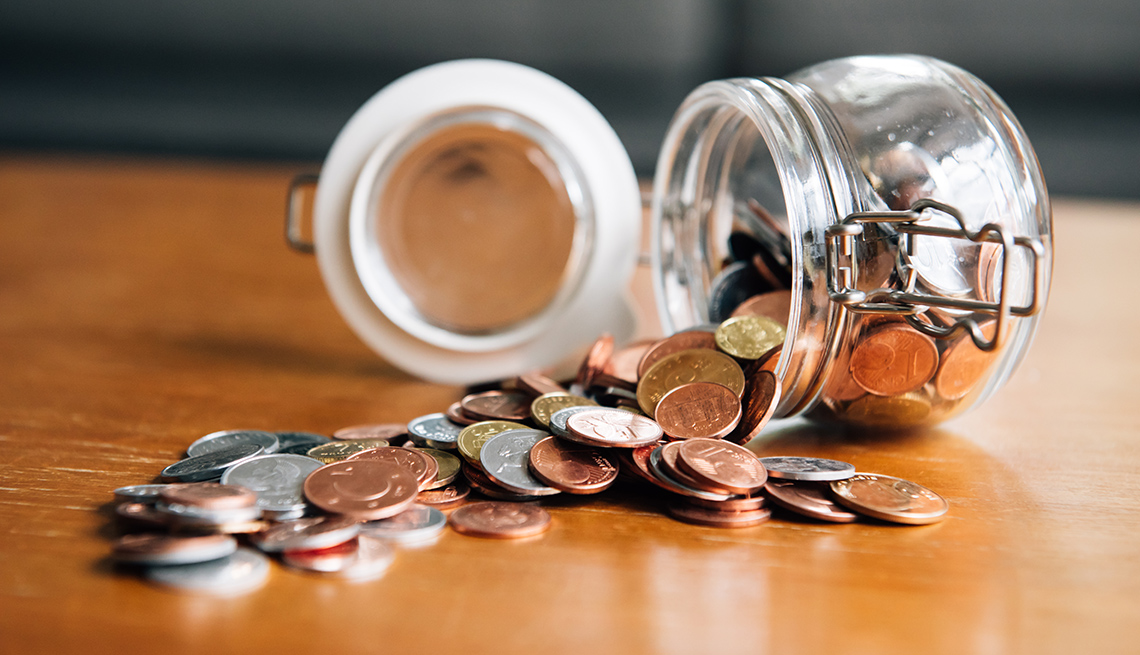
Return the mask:
[[[569,87],[450,62],[393,82],[344,126],[314,241],[368,345],[469,384],[634,334],[638,196],[617,136]],[[934,423],[988,398],[1024,357],[1050,221],[1017,121],[951,65],[856,57],[710,82],[658,161],[658,310],[666,334],[733,313],[784,322],[776,416]]]

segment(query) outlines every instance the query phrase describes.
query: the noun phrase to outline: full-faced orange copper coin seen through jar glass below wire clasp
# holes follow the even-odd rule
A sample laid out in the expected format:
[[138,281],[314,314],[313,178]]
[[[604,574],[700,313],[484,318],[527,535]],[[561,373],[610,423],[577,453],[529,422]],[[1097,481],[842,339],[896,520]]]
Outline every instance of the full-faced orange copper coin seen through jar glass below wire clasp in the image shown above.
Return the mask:
[[852,377],[877,395],[922,387],[938,369],[934,339],[902,324],[887,324],[863,337],[852,352]]

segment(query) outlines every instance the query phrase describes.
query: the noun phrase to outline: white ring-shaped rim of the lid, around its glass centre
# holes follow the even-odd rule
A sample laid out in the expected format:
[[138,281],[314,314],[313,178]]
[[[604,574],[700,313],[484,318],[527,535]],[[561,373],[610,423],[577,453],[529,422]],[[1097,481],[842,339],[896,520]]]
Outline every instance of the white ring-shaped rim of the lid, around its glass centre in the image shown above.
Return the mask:
[[[586,235],[585,246],[572,284],[537,316],[488,334],[449,330],[409,310],[377,248],[366,245],[377,171],[394,144],[425,118],[457,107],[515,114],[552,137],[576,171],[571,195],[585,207],[576,235]],[[627,288],[640,232],[633,165],[597,109],[545,73],[486,59],[429,66],[373,96],[333,144],[314,206],[317,261],[349,326],[391,363],[448,384],[551,367],[602,333],[628,338],[635,321]]]

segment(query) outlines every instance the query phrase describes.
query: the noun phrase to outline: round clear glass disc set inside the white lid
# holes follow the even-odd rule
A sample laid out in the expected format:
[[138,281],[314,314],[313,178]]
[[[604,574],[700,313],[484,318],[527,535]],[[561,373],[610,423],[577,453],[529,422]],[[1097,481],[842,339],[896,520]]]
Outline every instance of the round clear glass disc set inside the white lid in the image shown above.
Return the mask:
[[556,311],[593,235],[565,148],[496,108],[458,107],[385,139],[353,205],[353,260],[373,301],[453,347],[502,345]]

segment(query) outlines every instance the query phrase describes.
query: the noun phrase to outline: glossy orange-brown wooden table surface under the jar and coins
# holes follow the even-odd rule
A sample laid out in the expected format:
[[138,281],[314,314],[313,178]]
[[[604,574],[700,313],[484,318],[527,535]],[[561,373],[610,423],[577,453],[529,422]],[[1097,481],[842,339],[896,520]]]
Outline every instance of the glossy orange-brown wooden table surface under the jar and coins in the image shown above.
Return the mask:
[[381,361],[288,251],[290,166],[0,158],[0,653],[1140,652],[1140,205],[1056,202],[1053,290],[985,407],[904,436],[793,423],[951,502],[923,527],[677,523],[636,489],[448,532],[384,578],[274,564],[236,598],[115,571],[116,486],[222,428],[329,433],[461,390]]

